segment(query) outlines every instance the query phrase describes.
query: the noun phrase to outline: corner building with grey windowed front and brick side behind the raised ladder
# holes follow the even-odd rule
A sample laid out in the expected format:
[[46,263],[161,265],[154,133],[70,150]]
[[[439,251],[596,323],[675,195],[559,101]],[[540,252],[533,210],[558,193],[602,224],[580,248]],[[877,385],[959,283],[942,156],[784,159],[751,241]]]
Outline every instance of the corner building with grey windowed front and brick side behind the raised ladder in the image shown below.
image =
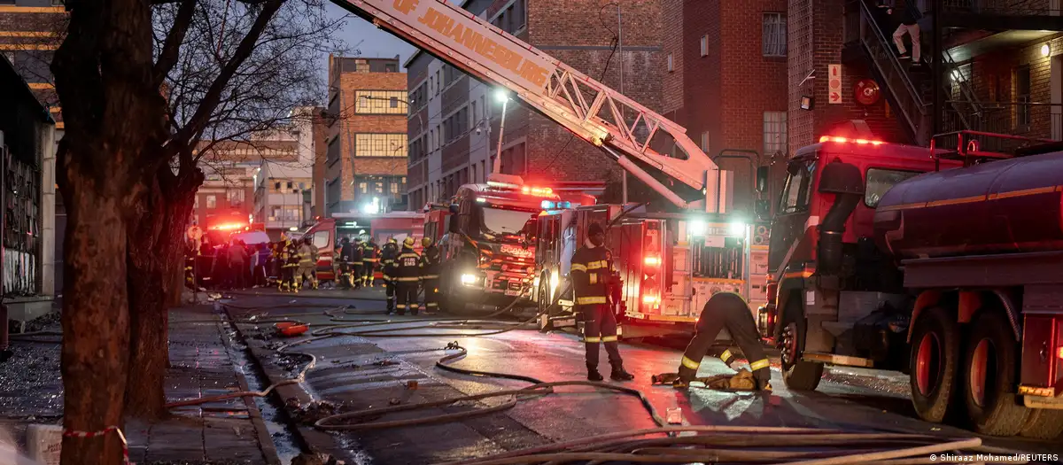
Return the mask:
[[[661,107],[661,4],[623,2],[623,56],[614,50],[617,10],[598,1],[467,0],[462,7],[644,106]],[[594,15],[602,10],[602,21]],[[608,64],[608,67],[607,67]],[[465,183],[484,182],[495,157],[502,104],[492,88],[419,52],[409,80],[410,206],[440,201]],[[554,121],[519,102],[507,105],[501,171],[528,184],[619,183],[620,168]],[[632,178],[632,183],[634,178]],[[619,201],[619,199],[617,199]]]

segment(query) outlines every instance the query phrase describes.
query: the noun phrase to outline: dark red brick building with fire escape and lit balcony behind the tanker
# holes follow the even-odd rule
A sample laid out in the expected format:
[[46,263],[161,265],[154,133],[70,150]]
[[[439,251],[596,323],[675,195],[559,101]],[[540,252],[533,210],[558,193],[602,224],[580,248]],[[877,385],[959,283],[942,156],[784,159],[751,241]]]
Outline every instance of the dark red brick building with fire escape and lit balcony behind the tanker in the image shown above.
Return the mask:
[[[1063,138],[1060,7],[1047,0],[938,1],[935,31],[934,3],[894,2],[922,30],[922,66],[913,68],[897,57],[892,40],[897,18],[873,2],[790,0],[791,153],[823,135],[855,131],[859,125],[846,124],[850,120],[866,123],[877,139],[918,145],[960,130]],[[905,41],[910,49],[909,37]],[[840,76],[829,75],[830,65]],[[838,82],[837,103],[831,81]],[[803,98],[814,106],[803,109]],[[986,150],[1014,145],[983,142]]]

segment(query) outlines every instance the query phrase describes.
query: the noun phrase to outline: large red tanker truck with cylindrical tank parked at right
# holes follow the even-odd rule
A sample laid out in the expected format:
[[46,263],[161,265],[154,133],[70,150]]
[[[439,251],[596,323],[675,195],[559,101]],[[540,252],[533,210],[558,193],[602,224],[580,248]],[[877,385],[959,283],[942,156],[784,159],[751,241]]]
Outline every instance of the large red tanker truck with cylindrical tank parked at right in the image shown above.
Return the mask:
[[[939,139],[956,149],[824,136],[797,152],[772,227],[762,330],[790,389],[814,390],[824,364],[896,369],[923,419],[1056,437],[1063,145]],[[993,139],[1031,147],[979,150]]]

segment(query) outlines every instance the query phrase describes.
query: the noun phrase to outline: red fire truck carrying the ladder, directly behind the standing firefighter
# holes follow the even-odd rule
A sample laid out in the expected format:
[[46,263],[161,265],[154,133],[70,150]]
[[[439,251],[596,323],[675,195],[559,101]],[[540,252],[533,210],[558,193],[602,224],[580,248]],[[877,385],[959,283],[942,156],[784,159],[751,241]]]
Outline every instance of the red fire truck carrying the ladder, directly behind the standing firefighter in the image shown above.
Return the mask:
[[[737,217],[647,213],[638,204],[580,206],[538,219],[539,276],[533,298],[540,313],[547,312],[555,299],[561,304],[562,312],[551,317],[552,327],[571,321],[571,296],[558,293],[566,289],[572,255],[592,223],[608,226],[606,246],[623,281],[620,304],[627,323],[692,332],[713,294],[749,296],[754,286],[760,288],[750,276],[750,263],[756,262],[754,225]],[[757,260],[765,261],[758,268],[766,268],[764,254]]]

